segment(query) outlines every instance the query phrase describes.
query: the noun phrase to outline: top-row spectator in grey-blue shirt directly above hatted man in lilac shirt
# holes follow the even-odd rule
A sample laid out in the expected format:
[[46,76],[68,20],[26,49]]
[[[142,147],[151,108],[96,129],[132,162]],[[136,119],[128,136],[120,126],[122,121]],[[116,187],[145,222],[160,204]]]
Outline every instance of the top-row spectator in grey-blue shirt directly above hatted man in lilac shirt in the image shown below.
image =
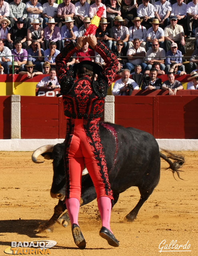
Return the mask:
[[46,27],[46,22],[48,22],[49,18],[54,18],[54,20],[56,21],[57,7],[58,4],[55,3],[55,0],[48,0],[47,3],[43,4],[43,28]]

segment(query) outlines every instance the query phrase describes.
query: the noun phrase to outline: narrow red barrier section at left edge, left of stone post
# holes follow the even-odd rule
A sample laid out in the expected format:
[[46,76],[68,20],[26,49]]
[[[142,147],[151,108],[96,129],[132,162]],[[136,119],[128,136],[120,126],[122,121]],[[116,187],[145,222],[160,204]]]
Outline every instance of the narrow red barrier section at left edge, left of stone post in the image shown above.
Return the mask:
[[0,96],[0,139],[10,139],[11,97]]

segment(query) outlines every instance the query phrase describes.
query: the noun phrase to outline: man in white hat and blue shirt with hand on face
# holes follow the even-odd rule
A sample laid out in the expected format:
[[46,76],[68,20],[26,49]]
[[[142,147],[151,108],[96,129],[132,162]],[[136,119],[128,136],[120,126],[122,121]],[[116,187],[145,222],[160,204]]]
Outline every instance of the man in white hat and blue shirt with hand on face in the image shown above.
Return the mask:
[[74,20],[71,17],[66,17],[63,23],[65,25],[60,30],[62,46],[64,45],[64,40],[72,41],[78,36],[78,28],[74,25]]

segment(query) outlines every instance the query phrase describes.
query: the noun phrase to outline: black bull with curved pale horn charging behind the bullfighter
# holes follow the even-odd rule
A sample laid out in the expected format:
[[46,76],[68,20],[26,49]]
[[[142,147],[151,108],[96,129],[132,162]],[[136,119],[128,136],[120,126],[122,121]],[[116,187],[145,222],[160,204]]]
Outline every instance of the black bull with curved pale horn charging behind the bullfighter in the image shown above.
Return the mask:
[[[114,196],[114,204],[118,201],[119,194],[126,189],[137,186],[140,191],[140,200],[134,209],[126,215],[128,221],[133,221],[142,204],[152,194],[160,179],[160,157],[166,160],[172,170],[179,177],[179,168],[184,164],[184,158],[171,152],[165,156],[159,151],[155,138],[142,130],[124,128],[123,126],[109,123],[100,123],[100,137],[104,147],[108,175]],[[53,182],[51,196],[60,199],[54,208],[54,215],[41,229],[52,226],[62,212],[66,210],[64,204],[66,175],[64,170],[64,143],[49,145],[50,150],[44,146],[35,150],[32,155],[33,162],[42,154],[45,158],[53,159]],[[170,160],[174,160],[173,162]],[[167,169],[168,169],[167,168]],[[180,178],[180,177],[179,177]],[[82,176],[81,205],[88,204],[96,198],[96,192],[89,174]],[[68,223],[68,216],[64,214],[61,221]],[[66,221],[65,221],[66,220]],[[67,224],[66,224],[67,225]],[[66,226],[64,225],[64,226]]]

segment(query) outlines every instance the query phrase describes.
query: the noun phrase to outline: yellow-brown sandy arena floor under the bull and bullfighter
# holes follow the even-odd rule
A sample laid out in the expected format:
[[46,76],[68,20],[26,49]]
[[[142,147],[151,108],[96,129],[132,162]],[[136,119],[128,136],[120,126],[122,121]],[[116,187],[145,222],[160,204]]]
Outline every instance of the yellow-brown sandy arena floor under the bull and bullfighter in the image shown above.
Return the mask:
[[[111,217],[120,247],[109,246],[99,236],[96,200],[80,208],[79,224],[87,242],[86,249],[80,250],[70,225],[64,228],[56,224],[53,233],[36,233],[58,203],[50,197],[52,161],[34,164],[32,152],[0,152],[0,256],[9,255],[4,250],[13,241],[36,240],[56,241],[47,254],[52,256],[197,256],[198,152],[179,153],[186,160],[180,174],[184,180],[174,180],[172,172],[161,170],[158,186],[134,222],[126,222],[124,217],[138,202],[138,189],[132,187],[120,194]],[[163,160],[161,165],[168,167]]]

